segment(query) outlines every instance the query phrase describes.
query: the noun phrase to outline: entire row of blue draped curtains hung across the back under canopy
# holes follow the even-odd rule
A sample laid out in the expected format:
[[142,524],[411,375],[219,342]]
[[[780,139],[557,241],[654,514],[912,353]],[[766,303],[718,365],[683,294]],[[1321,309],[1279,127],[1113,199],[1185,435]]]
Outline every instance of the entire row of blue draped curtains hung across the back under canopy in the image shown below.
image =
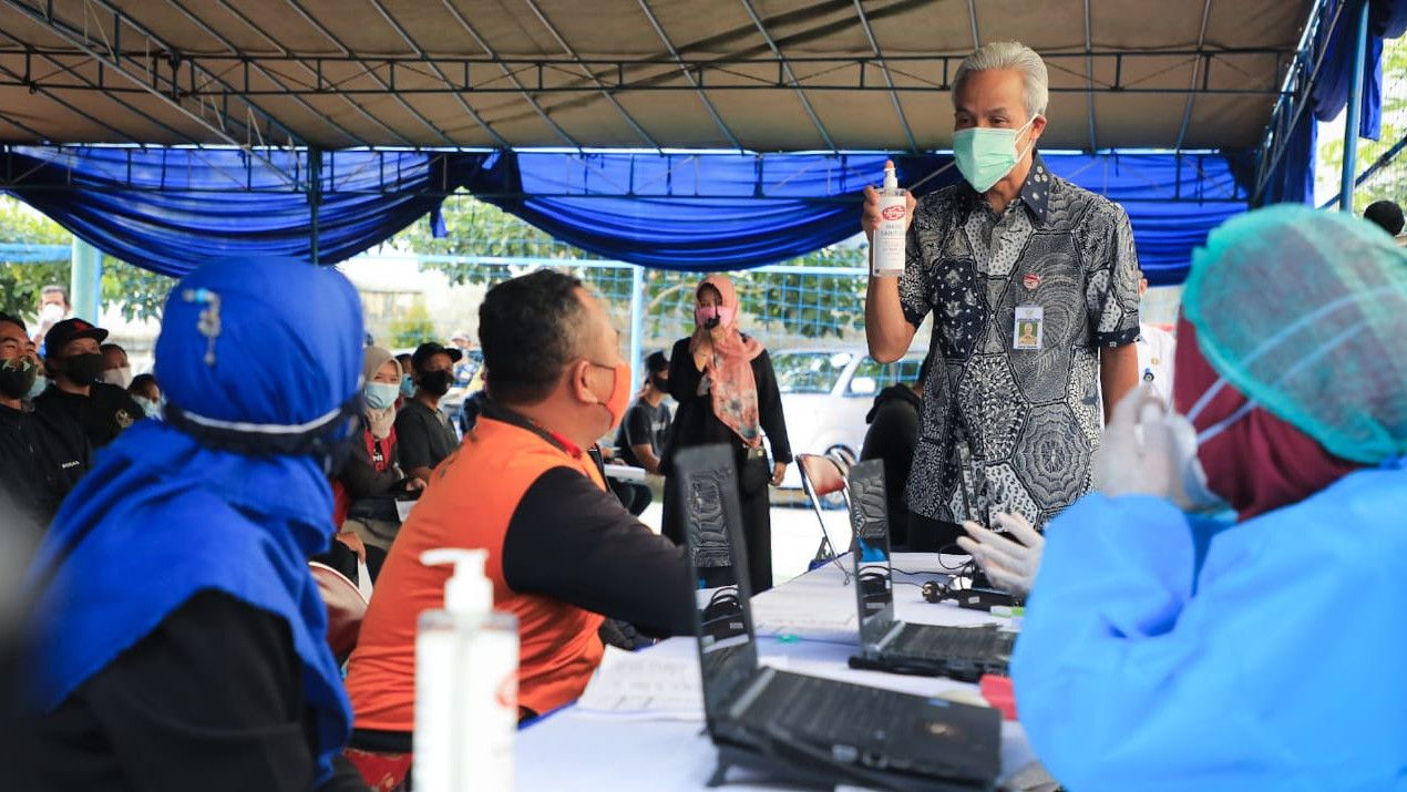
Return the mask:
[[[311,255],[303,152],[24,148],[13,191],[104,252],[179,276],[229,255]],[[1047,153],[1059,176],[1120,203],[1152,283],[1182,280],[1190,252],[1244,211],[1245,184],[1217,153]],[[733,270],[853,236],[884,153],[377,153],[322,158],[319,260],[338,262],[467,189],[554,238],[650,267]],[[919,194],[955,183],[950,155],[895,156]],[[937,174],[934,179],[927,179]]]

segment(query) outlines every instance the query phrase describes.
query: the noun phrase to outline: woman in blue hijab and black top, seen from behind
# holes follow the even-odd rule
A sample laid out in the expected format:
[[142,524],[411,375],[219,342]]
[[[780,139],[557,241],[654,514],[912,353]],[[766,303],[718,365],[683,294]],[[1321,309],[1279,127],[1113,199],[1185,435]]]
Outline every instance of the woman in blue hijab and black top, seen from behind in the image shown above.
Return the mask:
[[221,260],[172,290],[166,421],[104,450],[30,571],[17,788],[364,789],[307,566],[332,536],[362,338],[332,269]]

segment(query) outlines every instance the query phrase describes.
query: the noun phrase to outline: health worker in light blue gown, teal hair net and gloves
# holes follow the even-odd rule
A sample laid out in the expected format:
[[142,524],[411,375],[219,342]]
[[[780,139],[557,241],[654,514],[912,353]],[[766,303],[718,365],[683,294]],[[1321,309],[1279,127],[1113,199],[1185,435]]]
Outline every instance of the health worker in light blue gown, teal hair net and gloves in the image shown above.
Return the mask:
[[1172,408],[1120,402],[1099,492],[1044,547],[969,526],[988,573],[1031,588],[1012,679],[1062,784],[1401,788],[1404,336],[1389,236],[1293,204],[1240,215],[1193,255]]

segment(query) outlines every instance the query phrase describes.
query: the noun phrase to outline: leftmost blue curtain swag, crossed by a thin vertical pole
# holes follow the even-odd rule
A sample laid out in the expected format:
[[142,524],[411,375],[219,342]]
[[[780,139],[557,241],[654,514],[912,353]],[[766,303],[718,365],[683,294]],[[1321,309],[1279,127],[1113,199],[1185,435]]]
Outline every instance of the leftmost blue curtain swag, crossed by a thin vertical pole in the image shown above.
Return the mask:
[[[124,262],[180,276],[224,256],[311,257],[307,152],[14,146],[11,191]],[[433,190],[487,155],[333,152],[322,158],[319,260],[383,242],[439,205]]]

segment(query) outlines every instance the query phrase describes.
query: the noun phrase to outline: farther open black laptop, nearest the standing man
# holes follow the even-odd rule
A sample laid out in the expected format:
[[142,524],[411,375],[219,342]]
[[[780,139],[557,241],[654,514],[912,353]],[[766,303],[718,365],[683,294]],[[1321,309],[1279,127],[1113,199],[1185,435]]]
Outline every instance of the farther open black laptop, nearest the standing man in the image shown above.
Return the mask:
[[850,665],[964,682],[975,682],[982,674],[1006,674],[1016,633],[996,626],[944,627],[895,619],[884,461],[855,463],[847,478],[860,620],[860,654]]

